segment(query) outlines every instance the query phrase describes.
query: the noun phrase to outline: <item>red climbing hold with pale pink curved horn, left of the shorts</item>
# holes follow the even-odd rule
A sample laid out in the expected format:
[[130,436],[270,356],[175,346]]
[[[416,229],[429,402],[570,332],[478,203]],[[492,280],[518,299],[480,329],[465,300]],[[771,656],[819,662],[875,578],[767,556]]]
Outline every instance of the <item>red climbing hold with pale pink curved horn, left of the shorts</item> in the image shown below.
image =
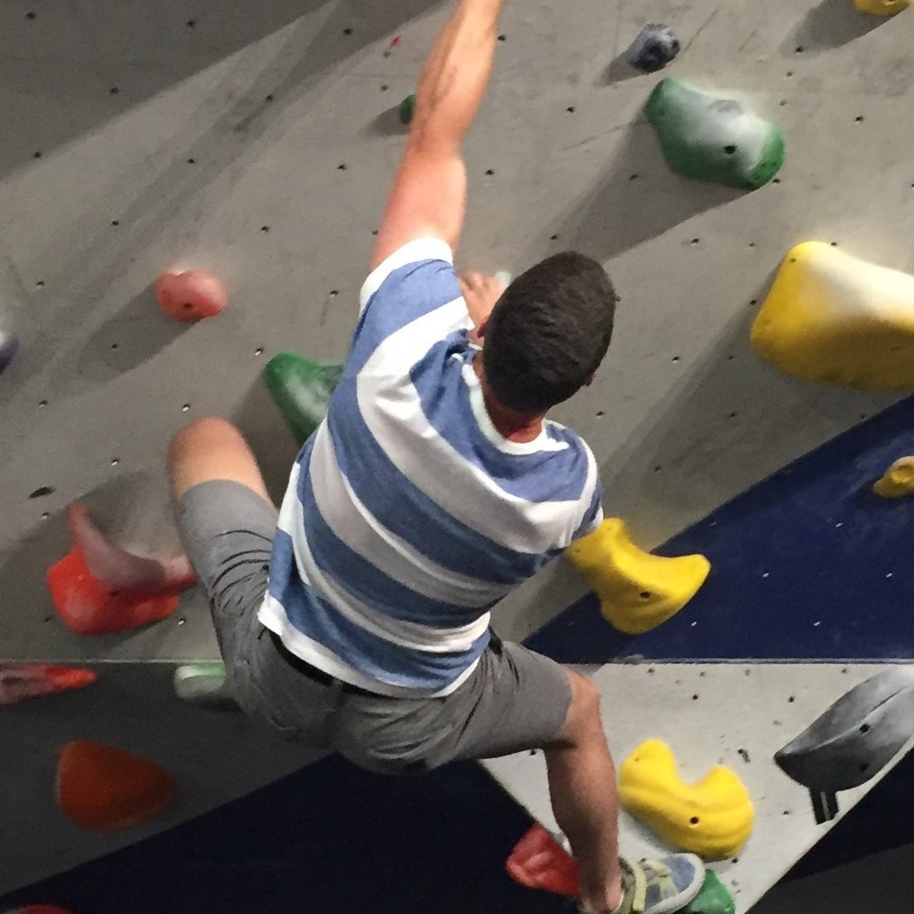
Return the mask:
[[48,569],[48,589],[62,622],[77,634],[112,634],[160,622],[178,594],[196,582],[185,556],[134,556],[110,542],[84,505],[71,505],[75,545]]

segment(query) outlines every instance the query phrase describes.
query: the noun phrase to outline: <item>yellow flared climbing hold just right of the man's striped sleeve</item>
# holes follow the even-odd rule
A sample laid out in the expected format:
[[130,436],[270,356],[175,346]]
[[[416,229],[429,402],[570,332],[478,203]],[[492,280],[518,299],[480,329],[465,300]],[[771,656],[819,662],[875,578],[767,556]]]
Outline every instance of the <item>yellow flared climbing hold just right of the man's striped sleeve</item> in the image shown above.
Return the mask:
[[625,522],[608,517],[566,550],[571,563],[600,598],[600,609],[620,632],[642,634],[666,622],[705,583],[704,556],[664,558],[632,543]]

